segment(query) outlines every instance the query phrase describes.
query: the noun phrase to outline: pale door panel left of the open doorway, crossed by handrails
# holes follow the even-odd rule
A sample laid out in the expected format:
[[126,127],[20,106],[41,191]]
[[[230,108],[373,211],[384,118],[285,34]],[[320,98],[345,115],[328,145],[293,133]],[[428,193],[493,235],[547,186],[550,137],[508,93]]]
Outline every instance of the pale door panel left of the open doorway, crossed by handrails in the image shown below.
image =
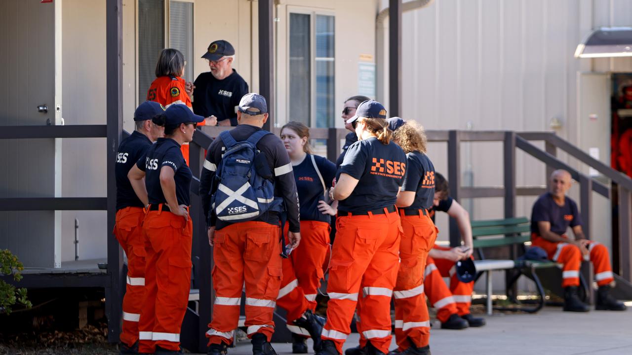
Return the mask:
[[[580,148],[593,157],[598,157],[605,165],[610,166],[610,97],[612,86],[610,75],[607,73],[578,73],[577,80]],[[588,167],[583,167],[582,172],[593,176],[602,183],[607,181],[599,172],[588,169]],[[611,250],[611,202],[597,193],[593,193],[592,198],[590,236]]]

